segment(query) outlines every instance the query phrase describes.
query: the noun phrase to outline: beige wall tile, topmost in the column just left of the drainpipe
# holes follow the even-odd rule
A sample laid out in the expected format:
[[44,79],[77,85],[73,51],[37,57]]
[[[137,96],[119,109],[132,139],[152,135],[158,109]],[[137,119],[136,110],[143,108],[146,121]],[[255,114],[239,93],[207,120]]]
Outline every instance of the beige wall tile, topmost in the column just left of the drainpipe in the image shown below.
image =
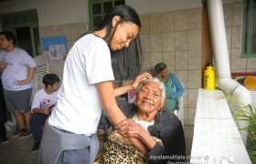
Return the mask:
[[187,10],[188,30],[198,30],[202,28],[202,8],[192,8]]

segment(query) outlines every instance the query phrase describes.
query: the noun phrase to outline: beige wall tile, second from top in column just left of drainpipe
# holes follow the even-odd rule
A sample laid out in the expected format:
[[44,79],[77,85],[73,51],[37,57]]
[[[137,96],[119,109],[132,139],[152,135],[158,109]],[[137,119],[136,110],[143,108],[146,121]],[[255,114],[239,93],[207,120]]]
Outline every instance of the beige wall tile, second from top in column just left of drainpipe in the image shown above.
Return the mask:
[[201,30],[188,31],[188,50],[201,49]]

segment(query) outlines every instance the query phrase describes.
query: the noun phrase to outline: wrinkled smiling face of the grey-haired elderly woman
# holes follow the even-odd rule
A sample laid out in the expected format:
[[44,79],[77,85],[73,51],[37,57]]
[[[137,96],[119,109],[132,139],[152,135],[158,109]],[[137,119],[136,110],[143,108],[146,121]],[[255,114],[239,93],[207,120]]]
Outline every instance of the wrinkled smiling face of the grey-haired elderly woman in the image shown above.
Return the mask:
[[136,97],[138,110],[151,113],[162,108],[162,89],[159,83],[148,81],[140,89]]

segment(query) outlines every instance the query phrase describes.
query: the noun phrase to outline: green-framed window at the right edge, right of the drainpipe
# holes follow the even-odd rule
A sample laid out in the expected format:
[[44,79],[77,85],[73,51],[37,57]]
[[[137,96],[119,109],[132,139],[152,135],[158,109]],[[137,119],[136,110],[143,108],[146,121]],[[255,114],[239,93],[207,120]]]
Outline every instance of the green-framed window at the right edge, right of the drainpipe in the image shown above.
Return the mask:
[[256,58],[256,0],[243,0],[241,57]]

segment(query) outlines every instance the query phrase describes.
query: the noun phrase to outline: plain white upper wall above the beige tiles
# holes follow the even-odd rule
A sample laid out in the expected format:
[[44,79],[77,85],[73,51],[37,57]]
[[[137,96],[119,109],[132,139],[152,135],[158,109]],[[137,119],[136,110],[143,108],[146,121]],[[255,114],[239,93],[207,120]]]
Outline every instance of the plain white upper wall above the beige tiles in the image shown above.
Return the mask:
[[[197,8],[202,0],[126,0],[140,15]],[[241,0],[223,0],[223,3]],[[12,0],[0,3],[0,15],[37,8],[39,26],[88,22],[88,0]],[[0,26],[1,27],[1,26]]]

